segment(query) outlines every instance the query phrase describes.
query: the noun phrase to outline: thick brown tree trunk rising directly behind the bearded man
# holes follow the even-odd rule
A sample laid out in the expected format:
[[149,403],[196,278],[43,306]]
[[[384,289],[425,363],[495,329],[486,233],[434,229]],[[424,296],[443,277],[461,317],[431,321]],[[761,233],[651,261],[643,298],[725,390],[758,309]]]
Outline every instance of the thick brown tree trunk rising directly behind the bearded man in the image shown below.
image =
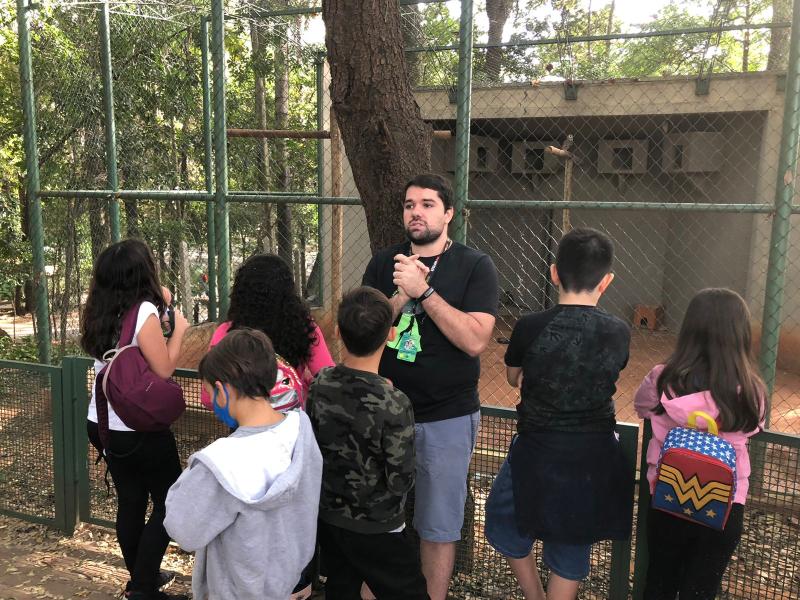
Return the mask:
[[431,164],[431,126],[411,91],[397,0],[324,0],[331,102],[373,253],[404,237],[403,186]]

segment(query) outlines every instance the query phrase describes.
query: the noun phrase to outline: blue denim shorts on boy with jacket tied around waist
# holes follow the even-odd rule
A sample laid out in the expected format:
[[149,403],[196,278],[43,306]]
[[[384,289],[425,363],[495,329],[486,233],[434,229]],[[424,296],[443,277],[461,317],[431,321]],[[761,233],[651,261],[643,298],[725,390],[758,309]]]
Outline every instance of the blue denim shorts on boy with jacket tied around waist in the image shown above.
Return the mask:
[[[534,538],[517,528],[514,513],[514,487],[511,465],[503,461],[486,501],[486,539],[492,548],[508,558],[525,558],[533,550]],[[589,574],[591,544],[573,545],[558,542],[542,544],[542,562],[556,575],[580,581]]]

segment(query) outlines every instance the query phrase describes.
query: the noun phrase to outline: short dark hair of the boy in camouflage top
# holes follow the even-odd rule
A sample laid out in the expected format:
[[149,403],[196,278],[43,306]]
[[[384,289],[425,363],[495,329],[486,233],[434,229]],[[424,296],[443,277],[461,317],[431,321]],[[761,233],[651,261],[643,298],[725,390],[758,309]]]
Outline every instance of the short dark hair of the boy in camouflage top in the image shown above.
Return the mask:
[[339,335],[353,356],[369,356],[386,342],[392,307],[378,290],[362,286],[342,298],[337,314]]

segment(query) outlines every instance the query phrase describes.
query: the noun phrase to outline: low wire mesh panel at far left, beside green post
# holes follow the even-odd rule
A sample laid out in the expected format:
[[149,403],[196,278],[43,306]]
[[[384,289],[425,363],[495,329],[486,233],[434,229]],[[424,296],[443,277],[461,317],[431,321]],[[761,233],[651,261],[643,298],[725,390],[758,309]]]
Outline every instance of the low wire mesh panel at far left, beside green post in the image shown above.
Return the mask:
[[31,367],[0,362],[0,511],[54,524],[60,374]]

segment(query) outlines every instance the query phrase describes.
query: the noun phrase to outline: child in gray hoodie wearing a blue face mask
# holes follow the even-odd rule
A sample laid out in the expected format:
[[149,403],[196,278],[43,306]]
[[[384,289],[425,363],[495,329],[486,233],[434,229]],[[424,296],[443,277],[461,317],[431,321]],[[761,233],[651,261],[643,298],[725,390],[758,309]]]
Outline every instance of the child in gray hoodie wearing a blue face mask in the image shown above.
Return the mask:
[[267,336],[237,329],[199,372],[214,413],[236,431],[189,458],[164,527],[194,551],[195,600],[286,600],[316,540],[322,456],[305,413],[276,412]]

